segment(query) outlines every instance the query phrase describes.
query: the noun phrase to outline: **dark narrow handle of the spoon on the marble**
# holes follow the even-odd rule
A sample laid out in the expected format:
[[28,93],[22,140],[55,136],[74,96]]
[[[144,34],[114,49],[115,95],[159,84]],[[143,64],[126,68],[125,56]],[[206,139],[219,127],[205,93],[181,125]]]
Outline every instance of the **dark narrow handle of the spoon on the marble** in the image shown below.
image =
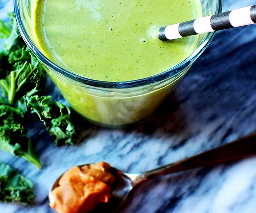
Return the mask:
[[256,154],[256,133],[233,141],[224,146],[206,151],[196,156],[186,158],[173,164],[143,173],[144,179],[184,171],[201,166],[218,164]]

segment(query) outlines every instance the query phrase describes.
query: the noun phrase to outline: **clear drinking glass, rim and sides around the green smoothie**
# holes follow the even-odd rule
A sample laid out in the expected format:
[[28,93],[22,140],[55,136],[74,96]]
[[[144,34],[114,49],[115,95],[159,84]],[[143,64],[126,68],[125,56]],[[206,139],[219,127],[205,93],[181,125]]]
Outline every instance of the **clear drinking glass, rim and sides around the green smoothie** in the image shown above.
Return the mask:
[[[222,0],[201,0],[201,3],[203,16],[221,12]],[[178,85],[214,35],[200,35],[194,52],[186,60],[163,73],[123,82],[92,80],[62,69],[40,52],[33,32],[35,4],[36,0],[14,0],[14,12],[23,39],[44,65],[71,107],[100,126],[124,126],[150,115]],[[75,103],[71,101],[74,97]]]

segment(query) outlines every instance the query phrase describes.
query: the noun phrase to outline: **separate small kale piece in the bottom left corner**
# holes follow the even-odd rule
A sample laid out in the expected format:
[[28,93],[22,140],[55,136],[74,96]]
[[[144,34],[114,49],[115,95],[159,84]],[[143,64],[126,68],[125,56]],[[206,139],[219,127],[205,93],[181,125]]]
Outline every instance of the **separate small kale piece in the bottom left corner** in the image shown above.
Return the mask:
[[0,162],[0,201],[27,205],[35,197],[32,182]]

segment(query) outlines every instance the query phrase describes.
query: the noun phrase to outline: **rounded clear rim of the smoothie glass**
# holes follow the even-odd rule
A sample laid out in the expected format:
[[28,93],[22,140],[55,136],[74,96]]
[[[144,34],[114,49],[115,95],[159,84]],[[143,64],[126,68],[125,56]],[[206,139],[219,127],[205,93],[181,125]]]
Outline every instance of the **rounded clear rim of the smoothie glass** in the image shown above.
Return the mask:
[[[30,36],[27,34],[24,25],[21,21],[20,16],[20,9],[18,5],[19,0],[14,0],[14,14],[15,19],[18,25],[18,29],[22,38],[24,39],[25,43],[28,45],[28,48],[35,54],[35,56],[43,62],[46,66],[51,67],[52,70],[61,74],[62,76],[68,77],[69,79],[75,80],[82,84],[92,86],[92,87],[101,87],[101,88],[132,88],[132,87],[139,87],[148,85],[150,83],[156,83],[162,80],[165,80],[170,77],[175,77],[180,74],[186,67],[193,64],[193,62],[204,52],[204,50],[209,46],[210,42],[213,39],[215,32],[208,33],[200,45],[182,62],[174,67],[161,72],[159,74],[138,79],[138,80],[130,80],[130,81],[100,81],[100,80],[93,80],[89,78],[85,78],[83,76],[77,75],[75,73],[69,72],[60,66],[53,63],[50,59],[48,59],[32,42]],[[216,0],[216,11],[215,14],[220,13],[222,9],[222,1],[223,0]]]

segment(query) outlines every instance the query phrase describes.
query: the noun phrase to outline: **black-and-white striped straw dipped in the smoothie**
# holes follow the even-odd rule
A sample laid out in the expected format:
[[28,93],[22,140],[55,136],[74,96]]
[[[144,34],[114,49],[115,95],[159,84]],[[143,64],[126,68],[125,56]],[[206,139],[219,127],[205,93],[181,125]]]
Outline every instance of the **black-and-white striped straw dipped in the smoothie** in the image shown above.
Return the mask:
[[159,39],[173,40],[256,23],[256,5],[161,27]]

